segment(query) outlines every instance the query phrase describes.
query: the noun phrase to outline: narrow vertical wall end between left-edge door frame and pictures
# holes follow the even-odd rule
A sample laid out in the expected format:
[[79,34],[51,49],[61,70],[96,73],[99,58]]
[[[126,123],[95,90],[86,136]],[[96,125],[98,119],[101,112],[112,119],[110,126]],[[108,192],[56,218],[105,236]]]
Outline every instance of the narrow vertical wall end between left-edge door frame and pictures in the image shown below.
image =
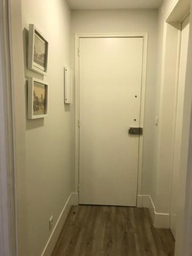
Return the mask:
[[11,0],[10,28],[12,55],[12,98],[14,117],[14,155],[17,187],[17,241],[18,254],[28,253],[28,207],[26,169],[25,79],[23,65],[21,0]]

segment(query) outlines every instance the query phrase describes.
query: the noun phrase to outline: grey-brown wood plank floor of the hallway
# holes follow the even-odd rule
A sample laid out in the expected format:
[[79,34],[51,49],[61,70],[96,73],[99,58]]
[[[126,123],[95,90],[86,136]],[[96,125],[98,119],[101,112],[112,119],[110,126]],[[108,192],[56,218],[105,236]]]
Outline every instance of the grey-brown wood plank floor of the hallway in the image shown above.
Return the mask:
[[174,255],[169,229],[153,227],[148,209],[73,206],[52,256]]

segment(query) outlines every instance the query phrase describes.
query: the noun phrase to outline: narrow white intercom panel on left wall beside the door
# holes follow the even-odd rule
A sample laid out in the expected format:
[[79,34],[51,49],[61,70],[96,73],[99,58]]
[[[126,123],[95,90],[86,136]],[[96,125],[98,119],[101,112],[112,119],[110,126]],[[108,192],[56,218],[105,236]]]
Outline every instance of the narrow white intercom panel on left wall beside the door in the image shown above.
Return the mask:
[[65,67],[65,103],[73,103],[73,71]]

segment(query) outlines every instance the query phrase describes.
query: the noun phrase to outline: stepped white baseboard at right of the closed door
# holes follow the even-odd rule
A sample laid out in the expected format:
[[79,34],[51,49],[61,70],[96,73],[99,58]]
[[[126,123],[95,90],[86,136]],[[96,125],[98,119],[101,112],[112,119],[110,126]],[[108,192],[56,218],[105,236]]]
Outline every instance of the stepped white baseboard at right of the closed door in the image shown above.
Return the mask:
[[138,195],[137,207],[146,207],[149,209],[155,228],[170,228],[170,214],[156,212],[154,202],[150,195]]

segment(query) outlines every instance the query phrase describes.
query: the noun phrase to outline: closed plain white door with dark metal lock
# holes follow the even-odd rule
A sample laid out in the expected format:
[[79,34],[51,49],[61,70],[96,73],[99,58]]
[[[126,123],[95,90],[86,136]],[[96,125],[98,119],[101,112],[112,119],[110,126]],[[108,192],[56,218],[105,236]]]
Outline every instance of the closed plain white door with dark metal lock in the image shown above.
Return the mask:
[[143,38],[79,48],[79,204],[136,206]]

